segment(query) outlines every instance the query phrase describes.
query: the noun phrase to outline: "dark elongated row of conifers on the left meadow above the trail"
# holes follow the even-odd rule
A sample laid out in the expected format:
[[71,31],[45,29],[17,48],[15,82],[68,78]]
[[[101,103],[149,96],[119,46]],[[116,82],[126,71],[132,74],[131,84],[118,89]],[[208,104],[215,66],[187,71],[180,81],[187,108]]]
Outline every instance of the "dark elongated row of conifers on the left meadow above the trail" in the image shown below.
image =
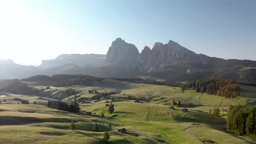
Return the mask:
[[69,111],[69,112],[79,112],[80,107],[77,102],[72,102],[72,104],[67,104],[66,102],[62,101],[48,101],[47,107],[55,108],[61,111]]

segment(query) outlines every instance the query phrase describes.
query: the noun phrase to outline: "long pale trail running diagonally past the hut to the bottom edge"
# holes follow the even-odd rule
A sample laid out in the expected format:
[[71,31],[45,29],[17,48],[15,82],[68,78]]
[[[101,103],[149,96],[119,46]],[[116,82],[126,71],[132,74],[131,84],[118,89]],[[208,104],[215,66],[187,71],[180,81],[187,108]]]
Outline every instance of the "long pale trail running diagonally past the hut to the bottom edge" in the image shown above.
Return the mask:
[[[41,110],[39,110],[39,109],[36,109],[36,108],[31,107],[30,105],[27,105],[27,106],[28,106],[29,108],[31,108],[31,109],[36,110],[36,111],[41,111]],[[51,113],[49,113],[49,112],[47,112],[47,111],[41,111],[41,112],[44,112],[44,113],[46,113],[46,114],[51,114]],[[52,114],[53,114],[53,113],[52,113]],[[54,115],[59,115],[59,114],[54,114]],[[77,115],[77,114],[75,114],[75,115]],[[68,116],[68,115],[66,115],[66,116]],[[72,116],[69,116],[69,117],[72,117]],[[72,118],[74,118],[74,117],[72,117]],[[75,117],[75,118],[80,119],[80,120],[85,121],[85,122],[88,122],[88,123],[91,123],[91,124],[95,124],[94,121],[86,120],[86,119],[79,118],[79,117]],[[98,123],[98,124],[101,124],[101,125],[103,125],[104,127],[108,128],[108,125],[106,125],[106,124],[102,124],[102,123]],[[118,130],[118,128],[113,128],[113,127],[112,127],[112,130]],[[128,130],[128,131],[131,131],[131,130]],[[140,136],[142,136],[142,137],[147,138],[149,141],[151,141],[151,142],[154,143],[154,144],[159,144],[157,141],[154,141],[153,139],[151,139],[150,137],[145,136],[144,134],[140,134],[140,133],[138,133],[138,132],[136,132],[136,131],[131,131],[131,132],[136,133],[136,134],[138,134],[138,135],[140,135]]]

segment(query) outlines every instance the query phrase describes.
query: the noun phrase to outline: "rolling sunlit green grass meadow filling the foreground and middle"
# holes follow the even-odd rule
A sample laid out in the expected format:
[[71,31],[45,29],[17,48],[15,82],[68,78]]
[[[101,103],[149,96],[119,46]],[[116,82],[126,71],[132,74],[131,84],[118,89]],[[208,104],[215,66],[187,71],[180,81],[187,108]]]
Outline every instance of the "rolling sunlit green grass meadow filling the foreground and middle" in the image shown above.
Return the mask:
[[[36,88],[45,88],[47,85],[33,85]],[[226,112],[220,117],[209,114],[209,109],[218,107],[226,109],[230,105],[255,105],[256,87],[242,86],[240,95],[236,98],[224,98],[216,95],[197,93],[187,89],[181,92],[181,88],[135,84],[107,80],[97,85],[73,85],[45,90],[46,95],[52,98],[62,99],[67,88],[79,92],[79,98],[88,98],[86,102],[79,102],[80,114],[73,114],[66,111],[58,111],[48,108],[45,105],[51,98],[39,98],[37,96],[15,95],[7,92],[0,92],[7,95],[0,97],[0,143],[103,143],[105,127],[100,124],[112,123],[114,128],[126,128],[129,134],[118,134],[117,131],[110,132],[110,143],[113,144],[150,144],[151,142],[143,136],[135,137],[135,133],[144,134],[161,144],[200,144],[196,137],[190,135],[185,128],[201,124],[198,127],[190,128],[188,131],[202,140],[210,139],[216,143],[255,143],[248,137],[239,137],[229,133],[223,128],[226,124]],[[98,93],[88,93],[88,90],[97,90]],[[106,98],[101,98],[102,92],[111,93]],[[135,100],[143,103],[135,103]],[[121,99],[118,99],[122,97]],[[105,101],[108,98],[115,98],[112,104],[115,111],[108,114],[108,107]],[[63,98],[62,101],[71,102],[74,95]],[[172,100],[181,101],[182,107],[188,108],[188,112],[182,112],[182,108],[175,107],[170,110]],[[3,100],[6,100],[3,102]],[[22,100],[30,102],[30,106],[17,104]],[[36,101],[37,105],[33,104]],[[108,100],[111,101],[111,100]],[[249,103],[245,103],[248,101]],[[97,117],[86,114],[86,111],[95,113]],[[104,113],[105,117],[101,117]],[[100,132],[93,132],[93,124],[81,120],[98,122]],[[75,121],[76,130],[69,130],[69,124]],[[232,141],[234,140],[234,141]]]

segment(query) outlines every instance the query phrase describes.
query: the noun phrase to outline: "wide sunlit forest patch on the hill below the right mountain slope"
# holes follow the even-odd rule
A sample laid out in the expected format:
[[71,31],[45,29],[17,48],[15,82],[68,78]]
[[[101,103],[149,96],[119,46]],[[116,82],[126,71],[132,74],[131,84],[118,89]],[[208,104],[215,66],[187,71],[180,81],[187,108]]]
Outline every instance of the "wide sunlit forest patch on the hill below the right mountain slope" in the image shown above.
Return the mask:
[[240,85],[232,80],[223,79],[200,79],[188,82],[187,84],[180,85],[181,90],[192,88],[196,92],[208,93],[210,95],[219,95],[226,98],[234,98],[240,95]]

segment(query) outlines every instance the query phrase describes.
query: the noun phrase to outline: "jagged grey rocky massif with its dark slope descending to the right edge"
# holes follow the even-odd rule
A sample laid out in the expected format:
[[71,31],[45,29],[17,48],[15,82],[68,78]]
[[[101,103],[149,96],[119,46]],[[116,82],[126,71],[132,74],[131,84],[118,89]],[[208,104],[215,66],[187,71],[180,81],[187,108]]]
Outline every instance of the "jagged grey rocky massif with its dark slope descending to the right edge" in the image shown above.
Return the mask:
[[216,77],[256,83],[256,61],[209,57],[171,40],[166,44],[155,43],[152,49],[145,46],[140,54],[137,51],[133,44],[118,38],[108,50],[107,63],[133,69],[135,75],[140,71],[142,75],[174,82]]

